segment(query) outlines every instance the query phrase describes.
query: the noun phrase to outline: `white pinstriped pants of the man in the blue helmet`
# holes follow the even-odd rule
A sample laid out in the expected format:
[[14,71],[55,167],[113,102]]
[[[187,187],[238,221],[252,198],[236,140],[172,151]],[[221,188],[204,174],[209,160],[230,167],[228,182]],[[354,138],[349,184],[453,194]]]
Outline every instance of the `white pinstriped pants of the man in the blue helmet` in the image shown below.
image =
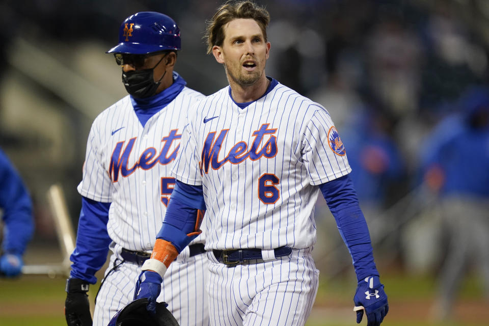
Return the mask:
[[[188,252],[188,247],[182,253]],[[110,266],[114,266],[116,255],[111,256]],[[120,260],[119,260],[120,262]],[[168,309],[180,326],[208,326],[208,306],[205,294],[207,276],[205,254],[194,257],[179,256],[167,270],[158,302],[168,303]],[[97,296],[93,326],[107,326],[111,318],[133,300],[135,284],[141,273],[137,264],[125,262],[104,281]]]

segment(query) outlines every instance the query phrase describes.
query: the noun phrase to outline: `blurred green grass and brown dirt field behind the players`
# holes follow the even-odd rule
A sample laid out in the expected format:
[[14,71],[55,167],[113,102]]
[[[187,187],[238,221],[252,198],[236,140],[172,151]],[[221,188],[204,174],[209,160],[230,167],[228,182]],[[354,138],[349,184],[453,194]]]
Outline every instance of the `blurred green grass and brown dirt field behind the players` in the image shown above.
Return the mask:
[[[383,326],[479,326],[489,318],[489,312],[485,311],[482,301],[481,282],[476,278],[467,279],[461,288],[452,322],[429,320],[428,311],[437,286],[434,278],[384,275],[383,283],[390,304],[390,312]],[[306,325],[357,325],[352,311],[355,287],[356,284],[349,278],[321,283],[315,307]],[[0,279],[0,325],[66,325],[63,314],[66,297],[64,288],[65,280],[62,278],[29,276],[14,280]],[[92,301],[96,291],[97,286],[92,286]],[[487,307],[487,301],[485,303]],[[365,324],[363,320],[360,325]]]

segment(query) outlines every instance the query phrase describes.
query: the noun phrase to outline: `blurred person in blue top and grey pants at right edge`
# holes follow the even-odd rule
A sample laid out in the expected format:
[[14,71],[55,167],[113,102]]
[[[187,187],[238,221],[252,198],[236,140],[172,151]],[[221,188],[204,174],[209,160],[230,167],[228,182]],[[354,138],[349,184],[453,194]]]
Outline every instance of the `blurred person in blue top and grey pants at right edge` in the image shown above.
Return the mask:
[[489,293],[489,88],[470,89],[457,105],[422,147],[424,183],[438,195],[449,241],[435,307],[442,319],[472,264]]

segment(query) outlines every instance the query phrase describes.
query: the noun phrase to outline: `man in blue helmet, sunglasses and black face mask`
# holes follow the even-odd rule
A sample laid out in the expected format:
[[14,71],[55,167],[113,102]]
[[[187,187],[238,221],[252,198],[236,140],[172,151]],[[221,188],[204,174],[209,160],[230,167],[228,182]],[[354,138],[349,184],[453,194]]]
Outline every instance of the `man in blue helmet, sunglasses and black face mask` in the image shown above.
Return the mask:
[[[95,298],[93,323],[106,326],[133,300],[140,267],[149,258],[175,179],[171,163],[180,148],[188,107],[203,95],[173,71],[180,50],[175,21],[139,12],[124,20],[114,53],[129,95],[93,122],[87,142],[83,196],[72,270],[66,284],[68,325],[91,325],[87,291],[110,249],[113,254]],[[158,301],[180,325],[207,325],[204,238],[181,251]],[[188,286],[192,283],[192,286]]]

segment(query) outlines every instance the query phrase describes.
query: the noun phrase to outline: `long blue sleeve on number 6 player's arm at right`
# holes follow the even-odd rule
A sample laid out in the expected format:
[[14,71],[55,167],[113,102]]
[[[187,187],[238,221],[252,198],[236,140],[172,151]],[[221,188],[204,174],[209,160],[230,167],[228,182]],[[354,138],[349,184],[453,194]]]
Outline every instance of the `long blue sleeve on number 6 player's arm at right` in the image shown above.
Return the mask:
[[367,222],[348,175],[319,185],[343,241],[350,252],[358,281],[378,276]]

